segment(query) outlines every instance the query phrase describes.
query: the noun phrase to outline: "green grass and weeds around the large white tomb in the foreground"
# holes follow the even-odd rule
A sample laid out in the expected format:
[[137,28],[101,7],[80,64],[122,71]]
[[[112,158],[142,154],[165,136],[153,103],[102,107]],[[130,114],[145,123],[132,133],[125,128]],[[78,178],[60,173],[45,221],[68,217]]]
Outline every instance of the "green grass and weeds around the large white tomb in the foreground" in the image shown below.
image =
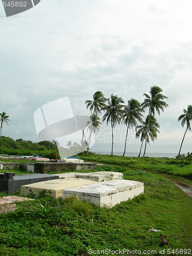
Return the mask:
[[[18,202],[15,212],[1,215],[0,254],[72,256],[80,255],[78,249],[127,248],[156,250],[157,255],[165,249],[166,255],[169,247],[162,244],[161,233],[167,236],[170,251],[191,248],[192,204],[172,182],[120,166],[92,171],[99,170],[122,172],[124,179],[144,182],[144,194],[113,208],[100,208],[76,197],[52,200],[51,194],[43,197],[43,193],[32,202]],[[152,226],[161,231],[148,232]]]

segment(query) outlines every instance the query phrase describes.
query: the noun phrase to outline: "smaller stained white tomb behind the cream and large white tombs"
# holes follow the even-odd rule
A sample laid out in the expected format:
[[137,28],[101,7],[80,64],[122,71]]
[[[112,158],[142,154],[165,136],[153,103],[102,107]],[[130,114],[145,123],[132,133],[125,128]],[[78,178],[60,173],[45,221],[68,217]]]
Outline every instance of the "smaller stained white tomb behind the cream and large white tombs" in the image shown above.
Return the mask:
[[87,174],[80,173],[80,174],[75,174],[75,178],[103,182],[108,180],[122,180],[123,174],[116,173],[116,172],[94,172],[94,173],[87,173]]

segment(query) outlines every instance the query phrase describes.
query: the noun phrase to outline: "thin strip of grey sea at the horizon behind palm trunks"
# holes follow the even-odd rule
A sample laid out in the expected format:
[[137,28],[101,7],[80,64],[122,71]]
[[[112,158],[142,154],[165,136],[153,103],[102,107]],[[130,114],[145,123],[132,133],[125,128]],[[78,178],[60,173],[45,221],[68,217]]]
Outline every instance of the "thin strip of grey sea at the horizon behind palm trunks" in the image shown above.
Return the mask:
[[[111,155],[111,152],[95,152],[96,154],[102,155]],[[122,156],[122,152],[113,152],[113,155]],[[137,157],[139,153],[125,153],[126,157]],[[141,157],[143,153],[141,153]],[[145,153],[145,157],[168,157],[168,158],[175,158],[177,153]]]

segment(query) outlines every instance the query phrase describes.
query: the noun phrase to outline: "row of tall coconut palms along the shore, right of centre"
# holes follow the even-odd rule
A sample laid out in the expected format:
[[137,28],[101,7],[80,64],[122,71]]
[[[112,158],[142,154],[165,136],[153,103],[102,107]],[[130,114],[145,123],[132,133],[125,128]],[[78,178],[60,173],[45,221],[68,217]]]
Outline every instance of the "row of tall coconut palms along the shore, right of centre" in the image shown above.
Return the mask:
[[[88,150],[90,145],[91,134],[96,133],[100,129],[100,118],[101,111],[104,111],[102,121],[106,121],[106,124],[111,125],[112,129],[112,151],[113,155],[113,144],[114,144],[114,129],[117,124],[126,125],[126,135],[125,135],[125,145],[124,152],[126,152],[126,142],[129,129],[135,127],[136,138],[140,138],[141,147],[138,157],[141,155],[142,146],[144,144],[143,157],[146,152],[146,145],[150,143],[150,139],[155,141],[158,137],[159,132],[159,123],[155,118],[156,113],[160,115],[161,111],[164,112],[164,109],[167,108],[168,104],[164,101],[167,99],[165,95],[162,94],[163,90],[160,87],[153,86],[149,94],[144,93],[144,101],[140,103],[138,100],[131,98],[127,101],[127,105],[124,104],[124,100],[117,95],[111,94],[109,98],[105,98],[103,93],[97,91],[93,95],[93,100],[86,100],[87,109],[91,111],[90,116],[90,137],[88,142]],[[142,114],[147,111],[147,116],[144,117]],[[184,114],[179,116],[178,121],[181,121],[182,127],[184,124],[187,124],[186,131],[191,131],[190,120],[192,120],[192,105],[188,105],[187,110],[183,110]],[[140,124],[138,124],[140,122]],[[181,152],[181,147],[184,141],[183,136],[179,154]]]

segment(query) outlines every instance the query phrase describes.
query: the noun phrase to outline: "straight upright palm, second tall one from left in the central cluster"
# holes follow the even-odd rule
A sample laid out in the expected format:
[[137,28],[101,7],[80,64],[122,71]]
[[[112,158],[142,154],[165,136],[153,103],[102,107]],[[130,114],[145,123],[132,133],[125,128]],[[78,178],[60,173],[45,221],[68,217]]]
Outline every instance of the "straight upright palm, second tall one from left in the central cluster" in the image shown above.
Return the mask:
[[118,98],[117,95],[111,94],[108,99],[108,105],[104,106],[102,110],[106,111],[103,116],[103,121],[106,120],[106,124],[111,123],[112,127],[112,151],[111,155],[113,156],[113,129],[117,124],[122,123],[123,118],[123,106],[121,103],[124,101],[121,98]]

